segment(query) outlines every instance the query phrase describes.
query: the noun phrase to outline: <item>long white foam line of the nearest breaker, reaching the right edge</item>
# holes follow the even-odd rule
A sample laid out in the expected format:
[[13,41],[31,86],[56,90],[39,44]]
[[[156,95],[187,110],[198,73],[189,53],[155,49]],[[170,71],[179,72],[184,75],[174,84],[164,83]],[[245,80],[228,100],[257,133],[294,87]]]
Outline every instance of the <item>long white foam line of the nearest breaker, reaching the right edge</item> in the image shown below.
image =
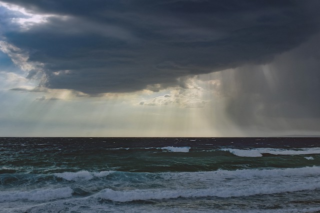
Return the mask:
[[133,191],[114,191],[111,189],[102,190],[97,198],[114,202],[130,202],[138,200],[161,200],[175,198],[200,198],[200,197],[247,197],[253,195],[268,195],[275,193],[296,192],[302,190],[315,190],[320,188],[320,183],[285,183],[257,186],[233,186],[217,187],[199,190],[133,190]]

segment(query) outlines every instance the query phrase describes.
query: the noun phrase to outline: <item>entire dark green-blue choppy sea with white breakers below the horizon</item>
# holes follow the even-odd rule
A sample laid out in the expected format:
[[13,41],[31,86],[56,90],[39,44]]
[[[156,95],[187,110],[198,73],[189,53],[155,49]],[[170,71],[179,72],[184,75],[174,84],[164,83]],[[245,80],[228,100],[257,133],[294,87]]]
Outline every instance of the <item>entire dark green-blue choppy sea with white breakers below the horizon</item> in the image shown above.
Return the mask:
[[0,138],[0,212],[320,212],[320,138]]

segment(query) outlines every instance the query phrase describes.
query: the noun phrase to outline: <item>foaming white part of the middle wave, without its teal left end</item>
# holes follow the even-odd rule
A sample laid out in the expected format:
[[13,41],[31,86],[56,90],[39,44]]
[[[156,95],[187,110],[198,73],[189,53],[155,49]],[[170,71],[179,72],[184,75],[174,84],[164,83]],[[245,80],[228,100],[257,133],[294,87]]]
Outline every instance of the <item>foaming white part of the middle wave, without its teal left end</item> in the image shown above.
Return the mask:
[[55,173],[56,177],[63,178],[67,181],[88,181],[94,177],[106,177],[110,174],[114,175],[114,180],[123,179],[126,177],[126,181],[130,178],[143,179],[147,181],[148,178],[154,179],[155,177],[162,180],[180,180],[199,182],[199,181],[213,181],[213,180],[225,180],[225,179],[254,179],[269,178],[269,177],[297,177],[297,176],[314,176],[320,175],[320,167],[302,167],[302,168],[285,168],[285,169],[239,169],[239,170],[217,170],[217,171],[205,171],[205,172],[163,172],[163,173],[148,173],[148,172],[121,172],[121,171],[102,171],[102,172],[65,172]]

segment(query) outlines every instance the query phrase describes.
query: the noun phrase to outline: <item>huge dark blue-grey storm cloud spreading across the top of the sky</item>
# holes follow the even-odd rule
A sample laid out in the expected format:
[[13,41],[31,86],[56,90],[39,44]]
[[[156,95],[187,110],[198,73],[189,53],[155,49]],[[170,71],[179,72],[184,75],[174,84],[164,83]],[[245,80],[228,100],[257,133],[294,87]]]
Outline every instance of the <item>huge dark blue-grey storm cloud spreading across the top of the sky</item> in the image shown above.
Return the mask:
[[42,86],[88,94],[265,63],[319,30],[317,0],[2,1],[60,15],[2,35],[44,64]]

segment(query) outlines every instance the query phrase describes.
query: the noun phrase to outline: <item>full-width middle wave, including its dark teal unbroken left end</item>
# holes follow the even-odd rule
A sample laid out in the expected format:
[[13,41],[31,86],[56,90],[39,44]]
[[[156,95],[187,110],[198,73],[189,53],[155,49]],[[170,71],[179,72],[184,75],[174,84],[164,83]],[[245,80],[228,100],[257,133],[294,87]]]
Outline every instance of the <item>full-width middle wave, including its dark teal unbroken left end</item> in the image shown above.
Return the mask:
[[[312,160],[312,157],[305,157],[307,160]],[[291,177],[304,178],[311,176],[320,176],[320,167],[302,167],[302,168],[278,168],[278,169],[237,169],[237,170],[216,170],[202,172],[125,172],[125,171],[102,171],[102,172],[63,172],[53,174],[7,174],[0,178],[1,185],[23,186],[30,183],[37,183],[39,186],[48,185],[50,183],[59,183],[54,177],[72,182],[102,181],[103,177],[112,174],[112,182],[122,182],[130,184],[132,180],[141,182],[162,181],[164,183],[170,181],[172,183],[180,183],[183,186],[186,183],[206,183],[225,181],[225,180],[240,180],[240,179],[255,179],[255,178],[270,178],[270,177]]]

